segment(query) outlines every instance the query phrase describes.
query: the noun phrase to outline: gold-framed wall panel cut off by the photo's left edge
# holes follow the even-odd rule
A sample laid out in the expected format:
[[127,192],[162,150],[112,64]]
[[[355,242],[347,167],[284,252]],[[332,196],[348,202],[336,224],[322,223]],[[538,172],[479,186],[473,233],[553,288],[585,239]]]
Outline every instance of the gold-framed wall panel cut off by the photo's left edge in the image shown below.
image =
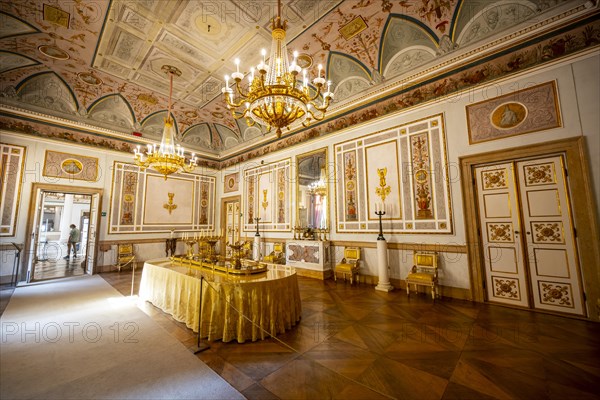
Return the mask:
[[0,143],[0,237],[17,229],[26,147]]

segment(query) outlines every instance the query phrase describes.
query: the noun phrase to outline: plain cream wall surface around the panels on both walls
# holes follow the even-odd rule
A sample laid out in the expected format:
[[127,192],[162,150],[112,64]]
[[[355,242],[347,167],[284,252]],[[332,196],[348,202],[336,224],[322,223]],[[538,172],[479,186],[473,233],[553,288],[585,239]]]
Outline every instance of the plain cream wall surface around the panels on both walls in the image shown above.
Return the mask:
[[[231,197],[242,195],[243,199],[243,173],[242,171],[249,166],[256,166],[261,161],[270,163],[284,158],[292,158],[304,152],[327,147],[329,152],[329,162],[333,161],[334,144],[362,136],[371,132],[376,132],[391,128],[397,125],[409,123],[417,119],[425,118],[434,114],[443,113],[445,118],[446,145],[449,162],[450,193],[453,213],[453,234],[432,235],[432,234],[394,234],[386,235],[388,242],[395,243],[426,243],[435,244],[466,244],[465,223],[463,214],[463,200],[461,192],[461,182],[459,173],[459,158],[467,155],[496,151],[498,149],[520,147],[528,144],[541,143],[551,140],[563,139],[568,137],[584,136],[588,144],[590,157],[590,168],[594,181],[594,192],[596,194],[597,210],[600,200],[600,56],[599,52],[588,53],[578,58],[569,59],[556,63],[552,66],[537,68],[521,74],[517,77],[494,82],[489,85],[481,86],[469,91],[455,94],[450,97],[440,98],[429,104],[418,108],[390,114],[384,118],[367,124],[353,126],[348,129],[328,135],[322,140],[312,141],[306,144],[294,146],[291,149],[284,149],[275,153],[270,153],[264,157],[250,160],[247,163],[229,167],[217,174],[217,209],[216,223],[220,224],[220,199],[222,197]],[[501,140],[484,142],[475,145],[469,145],[467,134],[467,121],[465,107],[468,104],[479,102],[487,98],[511,93],[520,88],[529,87],[533,84],[539,84],[551,80],[556,80],[558,95],[560,99],[561,115],[563,126],[560,128],[536,132],[520,136],[509,137]],[[59,142],[45,141],[39,138],[26,138],[23,136],[2,134],[2,141],[11,144],[27,146],[27,160],[24,175],[24,183],[21,191],[19,216],[15,238],[2,238],[0,243],[10,243],[16,241],[23,243],[25,235],[25,225],[27,223],[27,210],[30,202],[30,189],[33,182],[54,183],[60,185],[89,186],[94,188],[103,188],[104,196],[102,198],[102,210],[108,215],[110,201],[110,186],[112,181],[112,166],[114,161],[130,162],[131,157],[118,152],[102,152],[89,147],[83,147],[72,144],[63,144]],[[43,167],[44,153],[46,149],[62,151],[66,153],[81,153],[91,157],[97,157],[100,161],[100,177],[98,182],[69,181],[67,179],[46,178],[41,176]],[[223,193],[223,177],[232,172],[240,172],[239,191],[233,193]],[[214,173],[214,171],[208,171]],[[202,173],[202,171],[199,171]],[[330,187],[330,194],[335,194],[334,188]],[[292,198],[295,201],[295,193]],[[331,202],[333,203],[333,202]],[[295,204],[292,205],[295,210]],[[293,212],[293,221],[295,220],[295,211]],[[333,204],[330,204],[330,215],[335,215]],[[135,235],[109,235],[107,233],[108,216],[101,217],[100,223],[100,241],[104,240],[135,240],[145,238],[166,238],[168,233],[159,234],[135,234]],[[332,227],[331,239],[343,241],[366,241],[375,242],[376,234],[338,234],[335,227]],[[220,227],[219,227],[220,229]],[[253,236],[252,232],[243,232],[242,235]],[[262,234],[265,238],[291,239],[292,233],[272,233]],[[180,244],[179,251],[183,251]],[[6,253],[6,252],[3,252]],[[377,275],[375,249],[365,249],[362,271],[367,275]],[[336,249],[336,260],[341,259],[341,249]],[[164,246],[154,244],[138,245],[138,255],[140,260],[147,260],[164,256]],[[411,255],[406,251],[390,251],[390,267],[392,278],[403,278],[409,266],[411,265]],[[106,253],[99,253],[99,265],[111,265],[114,263],[114,249]],[[12,269],[12,258],[3,254],[1,258],[0,274],[8,275]],[[466,254],[442,253],[440,281],[443,285],[459,288],[469,288],[469,269]]]

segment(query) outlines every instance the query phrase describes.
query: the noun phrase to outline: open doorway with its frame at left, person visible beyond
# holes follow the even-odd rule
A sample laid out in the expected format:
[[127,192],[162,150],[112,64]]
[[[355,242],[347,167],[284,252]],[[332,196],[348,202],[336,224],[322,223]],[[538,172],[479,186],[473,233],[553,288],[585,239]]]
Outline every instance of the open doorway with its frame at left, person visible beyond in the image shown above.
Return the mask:
[[19,281],[94,273],[101,196],[102,189],[33,184]]

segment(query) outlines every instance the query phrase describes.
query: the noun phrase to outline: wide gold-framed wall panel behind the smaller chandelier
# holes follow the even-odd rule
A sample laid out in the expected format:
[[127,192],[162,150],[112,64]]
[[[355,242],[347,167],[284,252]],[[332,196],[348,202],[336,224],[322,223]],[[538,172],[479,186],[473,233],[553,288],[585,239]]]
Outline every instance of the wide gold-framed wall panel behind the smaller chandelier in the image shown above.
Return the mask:
[[150,169],[115,161],[109,234],[215,229],[216,178],[179,173],[164,181]]

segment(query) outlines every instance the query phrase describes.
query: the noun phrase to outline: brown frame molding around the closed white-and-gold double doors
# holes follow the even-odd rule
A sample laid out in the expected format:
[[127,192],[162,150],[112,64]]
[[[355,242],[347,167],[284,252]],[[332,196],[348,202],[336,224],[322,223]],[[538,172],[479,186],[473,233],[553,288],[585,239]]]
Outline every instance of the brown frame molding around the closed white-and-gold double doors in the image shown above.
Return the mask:
[[[600,244],[598,215],[594,200],[593,181],[589,170],[585,138],[577,136],[541,144],[502,149],[459,158],[462,179],[463,211],[467,238],[467,256],[473,300],[485,301],[483,287],[485,264],[477,231],[478,211],[475,198],[476,165],[513,161],[516,159],[565,154],[567,181],[574,227],[577,229],[577,249],[588,318],[600,321]],[[576,196],[574,194],[577,194]]]

